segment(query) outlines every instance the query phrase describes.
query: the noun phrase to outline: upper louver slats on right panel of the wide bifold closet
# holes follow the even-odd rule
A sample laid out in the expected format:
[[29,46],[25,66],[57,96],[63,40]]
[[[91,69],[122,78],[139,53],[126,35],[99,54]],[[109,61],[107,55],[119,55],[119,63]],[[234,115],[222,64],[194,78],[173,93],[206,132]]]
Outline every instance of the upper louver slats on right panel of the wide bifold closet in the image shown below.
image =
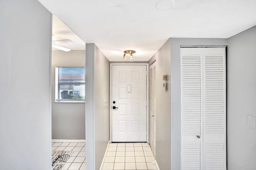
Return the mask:
[[224,134],[224,57],[205,55],[205,132]]

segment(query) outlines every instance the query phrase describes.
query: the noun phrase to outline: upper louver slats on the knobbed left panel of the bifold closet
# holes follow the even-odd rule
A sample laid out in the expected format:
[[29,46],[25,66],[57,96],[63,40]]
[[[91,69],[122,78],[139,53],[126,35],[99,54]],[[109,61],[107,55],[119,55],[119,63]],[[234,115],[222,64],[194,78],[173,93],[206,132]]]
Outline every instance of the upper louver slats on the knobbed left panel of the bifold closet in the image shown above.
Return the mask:
[[[192,68],[192,69],[191,69]],[[182,56],[182,135],[201,134],[201,56]]]

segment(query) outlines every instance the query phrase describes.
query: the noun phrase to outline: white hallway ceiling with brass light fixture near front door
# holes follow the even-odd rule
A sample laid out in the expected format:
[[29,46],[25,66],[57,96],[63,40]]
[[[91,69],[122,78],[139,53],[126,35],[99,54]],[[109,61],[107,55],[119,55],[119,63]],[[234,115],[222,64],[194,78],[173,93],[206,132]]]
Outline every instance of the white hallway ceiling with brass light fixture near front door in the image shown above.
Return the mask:
[[110,61],[130,49],[148,61],[170,37],[229,38],[256,25],[256,0],[38,1]]

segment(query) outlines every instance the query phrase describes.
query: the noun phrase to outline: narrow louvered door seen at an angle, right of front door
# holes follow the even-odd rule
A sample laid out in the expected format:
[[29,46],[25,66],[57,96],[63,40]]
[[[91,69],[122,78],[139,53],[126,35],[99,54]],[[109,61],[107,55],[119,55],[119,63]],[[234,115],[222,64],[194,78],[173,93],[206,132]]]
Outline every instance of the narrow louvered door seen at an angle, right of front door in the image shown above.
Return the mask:
[[150,133],[149,144],[156,156],[156,61],[150,65]]

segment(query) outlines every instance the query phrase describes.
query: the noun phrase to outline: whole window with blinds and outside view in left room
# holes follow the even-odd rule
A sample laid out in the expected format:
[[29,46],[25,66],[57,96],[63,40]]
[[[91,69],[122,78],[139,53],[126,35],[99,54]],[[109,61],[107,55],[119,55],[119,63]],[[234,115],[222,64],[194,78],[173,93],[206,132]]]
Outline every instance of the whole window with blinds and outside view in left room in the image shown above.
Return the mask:
[[84,102],[84,67],[56,67],[55,71],[55,101]]

